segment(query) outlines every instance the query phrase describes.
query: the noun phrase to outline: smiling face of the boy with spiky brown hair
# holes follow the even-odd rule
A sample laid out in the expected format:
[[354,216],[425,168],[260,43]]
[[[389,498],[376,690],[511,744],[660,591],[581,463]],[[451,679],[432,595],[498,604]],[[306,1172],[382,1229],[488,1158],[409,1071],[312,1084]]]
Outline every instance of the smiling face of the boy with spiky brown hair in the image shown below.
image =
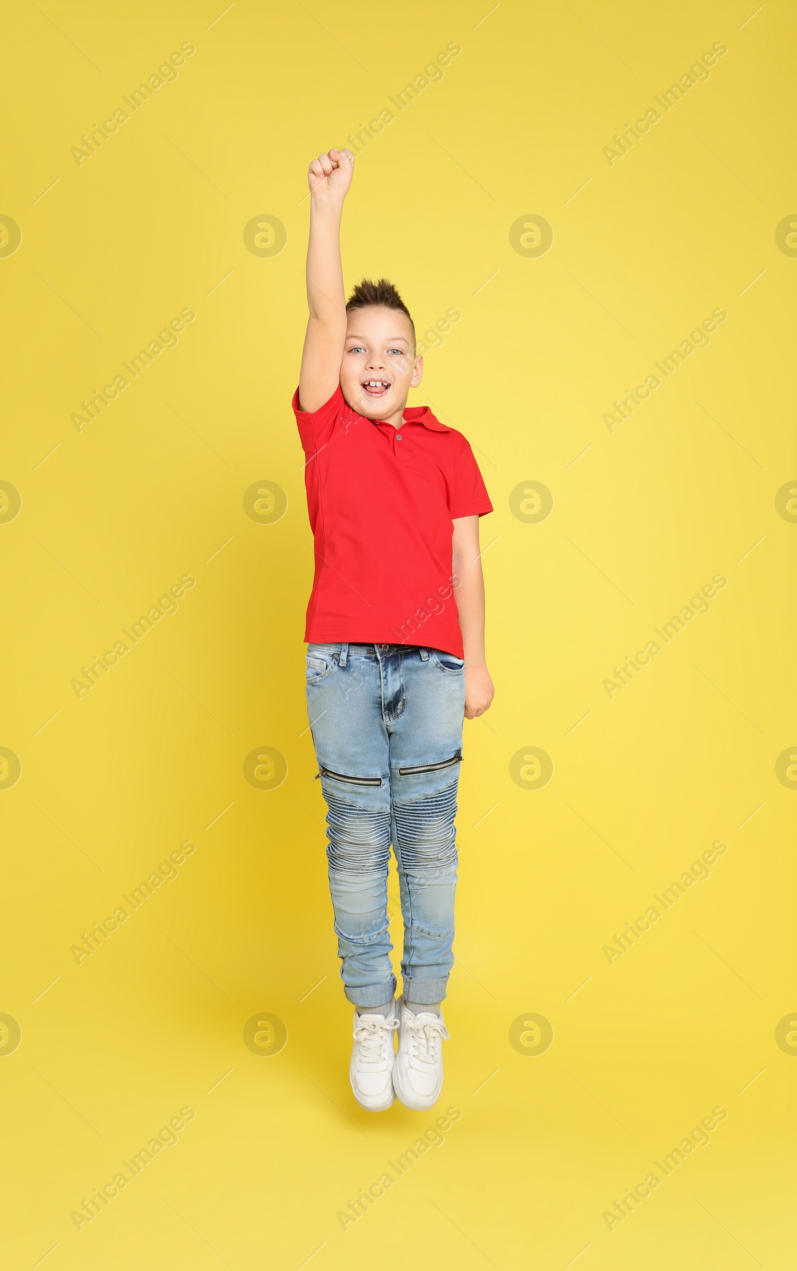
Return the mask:
[[366,419],[388,419],[403,412],[411,388],[423,374],[416,357],[412,325],[400,309],[369,306],[348,315],[341,390],[348,405]]

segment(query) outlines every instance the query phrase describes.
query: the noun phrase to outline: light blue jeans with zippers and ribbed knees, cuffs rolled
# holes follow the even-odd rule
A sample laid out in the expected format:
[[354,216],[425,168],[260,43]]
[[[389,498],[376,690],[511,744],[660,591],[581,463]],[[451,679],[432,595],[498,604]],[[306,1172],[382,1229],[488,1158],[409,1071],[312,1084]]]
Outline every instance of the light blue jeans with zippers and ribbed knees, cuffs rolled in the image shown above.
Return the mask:
[[441,1002],[454,963],[464,662],[403,644],[310,644],[306,691],[346,996],[362,1008],[395,993],[388,928],[393,844],[404,999]]

